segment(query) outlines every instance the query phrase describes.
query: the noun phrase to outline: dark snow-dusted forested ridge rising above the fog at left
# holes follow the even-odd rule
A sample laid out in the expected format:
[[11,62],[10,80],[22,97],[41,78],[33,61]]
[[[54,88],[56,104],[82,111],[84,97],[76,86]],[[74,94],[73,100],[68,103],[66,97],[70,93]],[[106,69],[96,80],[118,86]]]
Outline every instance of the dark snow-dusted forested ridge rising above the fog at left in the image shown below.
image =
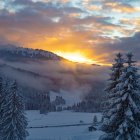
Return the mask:
[[15,45],[0,45],[0,58],[8,61],[19,59],[31,60],[61,60],[62,57],[44,50],[17,47]]

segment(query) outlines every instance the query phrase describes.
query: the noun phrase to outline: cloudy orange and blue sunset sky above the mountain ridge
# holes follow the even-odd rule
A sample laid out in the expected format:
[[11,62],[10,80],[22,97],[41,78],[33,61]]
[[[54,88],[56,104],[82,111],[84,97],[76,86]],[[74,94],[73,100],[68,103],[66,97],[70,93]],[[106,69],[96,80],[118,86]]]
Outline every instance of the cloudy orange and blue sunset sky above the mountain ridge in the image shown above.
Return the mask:
[[140,0],[0,0],[0,44],[89,64],[130,51],[140,61]]

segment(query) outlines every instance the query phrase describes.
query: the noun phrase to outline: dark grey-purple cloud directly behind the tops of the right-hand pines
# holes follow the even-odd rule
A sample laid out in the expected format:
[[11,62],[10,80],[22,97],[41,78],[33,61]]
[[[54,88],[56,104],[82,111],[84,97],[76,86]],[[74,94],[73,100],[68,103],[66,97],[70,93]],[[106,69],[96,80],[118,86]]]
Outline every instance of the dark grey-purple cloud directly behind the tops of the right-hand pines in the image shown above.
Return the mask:
[[104,54],[103,61],[112,63],[113,62],[112,58],[114,58],[116,53],[122,52],[126,54],[127,52],[132,52],[134,53],[135,59],[138,61],[139,64],[140,63],[139,40],[140,40],[140,32],[137,32],[131,37],[122,37],[118,38],[118,40],[115,40],[114,42],[102,44],[100,47],[98,47],[98,49],[96,49],[97,50],[96,53]]

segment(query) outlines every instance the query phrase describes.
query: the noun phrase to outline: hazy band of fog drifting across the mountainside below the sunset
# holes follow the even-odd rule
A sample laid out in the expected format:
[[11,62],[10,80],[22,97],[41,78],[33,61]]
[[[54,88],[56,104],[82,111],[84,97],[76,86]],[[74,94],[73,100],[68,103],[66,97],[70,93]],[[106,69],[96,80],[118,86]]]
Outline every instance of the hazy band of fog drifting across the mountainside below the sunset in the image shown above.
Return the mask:
[[91,89],[100,89],[108,79],[109,68],[69,61],[3,62],[4,75],[20,84],[40,90],[67,91],[82,97]]

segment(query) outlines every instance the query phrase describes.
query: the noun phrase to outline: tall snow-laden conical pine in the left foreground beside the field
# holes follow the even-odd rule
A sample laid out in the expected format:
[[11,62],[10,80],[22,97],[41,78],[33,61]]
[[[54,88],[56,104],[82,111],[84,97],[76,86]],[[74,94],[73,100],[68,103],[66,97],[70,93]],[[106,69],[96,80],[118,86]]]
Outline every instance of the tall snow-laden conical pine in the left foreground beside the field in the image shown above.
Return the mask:
[[3,131],[0,139],[2,140],[25,140],[28,135],[23,98],[18,93],[16,81],[10,86],[1,125]]

